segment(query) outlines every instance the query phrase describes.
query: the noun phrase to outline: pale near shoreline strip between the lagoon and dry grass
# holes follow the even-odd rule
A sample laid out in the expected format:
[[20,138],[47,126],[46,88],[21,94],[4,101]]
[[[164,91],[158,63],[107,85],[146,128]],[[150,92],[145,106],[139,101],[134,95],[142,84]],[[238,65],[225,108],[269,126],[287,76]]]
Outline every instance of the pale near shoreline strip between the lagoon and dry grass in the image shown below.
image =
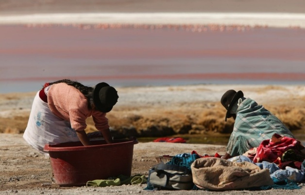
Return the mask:
[[[116,107],[169,106],[189,102],[220,102],[229,89],[241,90],[245,97],[251,97],[262,104],[279,104],[293,99],[290,105],[298,104],[296,99],[305,97],[303,85],[238,85],[238,84],[198,84],[181,86],[116,87],[119,101]],[[29,112],[36,92],[8,93],[0,96],[0,117]],[[8,98],[9,96],[10,98]],[[12,98],[16,96],[17,98]],[[300,105],[301,106],[301,105]]]

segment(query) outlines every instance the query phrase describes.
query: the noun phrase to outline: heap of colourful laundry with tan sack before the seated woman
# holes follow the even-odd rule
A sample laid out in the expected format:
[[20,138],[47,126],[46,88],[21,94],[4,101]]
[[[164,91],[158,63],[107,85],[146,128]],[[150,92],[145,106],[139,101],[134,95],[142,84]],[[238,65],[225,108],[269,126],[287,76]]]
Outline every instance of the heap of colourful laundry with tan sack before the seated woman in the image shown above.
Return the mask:
[[[299,189],[299,184],[305,182],[305,147],[296,139],[278,134],[231,159],[222,159],[218,153],[209,156],[192,151],[177,154],[166,164],[189,169],[194,184],[192,190]],[[160,179],[170,178],[166,170],[158,171]],[[158,183],[155,180],[153,182]],[[146,190],[178,186],[177,182],[163,186],[152,184],[150,176],[147,184]]]

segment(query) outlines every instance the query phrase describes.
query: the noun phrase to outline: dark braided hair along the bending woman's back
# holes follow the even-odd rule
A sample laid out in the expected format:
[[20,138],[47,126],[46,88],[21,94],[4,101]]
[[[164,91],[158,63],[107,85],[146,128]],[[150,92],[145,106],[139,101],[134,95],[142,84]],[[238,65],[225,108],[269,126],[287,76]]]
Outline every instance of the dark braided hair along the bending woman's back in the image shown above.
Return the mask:
[[91,109],[91,104],[90,104],[90,98],[93,97],[93,87],[87,87],[77,81],[71,81],[69,79],[63,79],[63,80],[59,80],[59,81],[54,81],[54,82],[47,82],[44,84],[44,87],[50,86],[52,84],[56,84],[56,83],[61,83],[64,82],[70,86],[75,87],[76,89],[78,89],[82,94],[84,94],[84,96],[86,97],[86,99],[88,100],[88,108]]

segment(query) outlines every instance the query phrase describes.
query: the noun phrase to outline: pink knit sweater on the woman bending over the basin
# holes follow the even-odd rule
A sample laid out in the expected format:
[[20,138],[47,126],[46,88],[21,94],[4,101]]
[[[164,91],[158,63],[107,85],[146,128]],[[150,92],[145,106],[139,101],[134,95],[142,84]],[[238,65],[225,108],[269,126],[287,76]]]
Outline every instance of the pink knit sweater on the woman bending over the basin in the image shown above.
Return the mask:
[[106,113],[95,109],[88,109],[88,101],[85,96],[73,86],[66,83],[56,83],[50,86],[48,91],[48,104],[51,112],[70,121],[74,130],[85,130],[86,118],[92,116],[97,130],[108,129]]

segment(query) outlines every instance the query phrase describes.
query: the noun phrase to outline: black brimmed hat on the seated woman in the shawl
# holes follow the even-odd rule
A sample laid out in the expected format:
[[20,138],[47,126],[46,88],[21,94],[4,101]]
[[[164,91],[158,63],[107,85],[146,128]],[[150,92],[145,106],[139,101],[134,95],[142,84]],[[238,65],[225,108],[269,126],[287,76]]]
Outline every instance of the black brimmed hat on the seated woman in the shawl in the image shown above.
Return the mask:
[[221,104],[225,109],[227,109],[227,113],[225,114],[225,121],[227,121],[227,118],[231,118],[233,114],[230,114],[230,111],[233,107],[233,104],[240,98],[244,97],[244,94],[242,91],[235,91],[233,89],[228,90],[223,94],[221,97]]

